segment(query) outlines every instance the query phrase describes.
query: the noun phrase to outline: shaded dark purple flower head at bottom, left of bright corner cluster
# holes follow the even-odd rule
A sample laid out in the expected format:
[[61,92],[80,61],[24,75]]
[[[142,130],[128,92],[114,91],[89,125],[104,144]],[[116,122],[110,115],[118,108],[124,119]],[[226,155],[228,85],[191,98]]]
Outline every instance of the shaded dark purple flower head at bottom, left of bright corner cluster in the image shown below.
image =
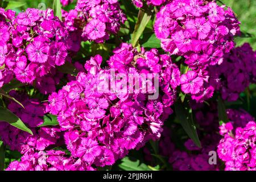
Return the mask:
[[[160,155],[166,156],[172,169],[175,171],[213,171],[218,170],[218,164],[209,164],[209,151],[216,150],[218,143],[217,134],[208,134],[201,138],[202,148],[199,148],[191,139],[185,140],[185,150],[180,150],[171,140],[170,129],[164,127],[162,137],[159,140]],[[147,151],[144,148],[144,151]],[[151,160],[150,153],[145,156]]]

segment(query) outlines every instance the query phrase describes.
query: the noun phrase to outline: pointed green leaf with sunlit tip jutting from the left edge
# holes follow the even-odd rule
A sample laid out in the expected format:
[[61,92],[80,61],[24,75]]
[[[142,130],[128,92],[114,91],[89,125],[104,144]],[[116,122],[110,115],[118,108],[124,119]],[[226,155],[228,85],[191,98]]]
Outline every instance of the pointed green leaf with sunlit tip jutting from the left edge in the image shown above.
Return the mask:
[[24,125],[18,116],[12,113],[9,109],[5,109],[2,106],[0,106],[0,121],[8,122],[10,125],[33,135],[32,131],[28,129],[26,125]]

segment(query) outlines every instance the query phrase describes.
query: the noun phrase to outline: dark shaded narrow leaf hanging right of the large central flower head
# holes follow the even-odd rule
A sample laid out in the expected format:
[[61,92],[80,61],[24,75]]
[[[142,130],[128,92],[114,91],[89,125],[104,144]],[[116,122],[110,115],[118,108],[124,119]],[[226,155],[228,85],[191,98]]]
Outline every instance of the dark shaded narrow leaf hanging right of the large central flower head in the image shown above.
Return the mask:
[[196,132],[196,126],[193,123],[192,110],[185,109],[183,105],[184,104],[181,104],[180,101],[177,101],[175,104],[175,113],[177,115],[177,119],[180,121],[181,126],[188,136],[193,140],[196,146],[201,148],[201,143]]

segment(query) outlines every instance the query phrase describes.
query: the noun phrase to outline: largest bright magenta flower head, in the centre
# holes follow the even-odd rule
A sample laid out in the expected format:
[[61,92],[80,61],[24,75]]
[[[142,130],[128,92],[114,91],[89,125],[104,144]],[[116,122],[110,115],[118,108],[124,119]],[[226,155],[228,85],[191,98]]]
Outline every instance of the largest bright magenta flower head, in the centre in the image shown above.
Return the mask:
[[[169,74],[177,69],[171,58],[159,55],[156,49],[138,53],[130,44],[122,44],[107,61],[110,68],[102,69],[101,63],[99,55],[88,60],[85,72],[49,96],[47,110],[58,115],[72,156],[89,166],[103,167],[160,137],[163,122],[172,113],[170,106],[179,83],[172,82]],[[142,80],[135,77],[131,82],[125,80],[142,73],[160,75],[155,81],[159,81],[161,94],[154,100],[149,99],[156,93],[154,81],[147,80],[150,86],[143,92]],[[113,78],[113,74],[117,77]],[[126,88],[127,85],[131,87]]]

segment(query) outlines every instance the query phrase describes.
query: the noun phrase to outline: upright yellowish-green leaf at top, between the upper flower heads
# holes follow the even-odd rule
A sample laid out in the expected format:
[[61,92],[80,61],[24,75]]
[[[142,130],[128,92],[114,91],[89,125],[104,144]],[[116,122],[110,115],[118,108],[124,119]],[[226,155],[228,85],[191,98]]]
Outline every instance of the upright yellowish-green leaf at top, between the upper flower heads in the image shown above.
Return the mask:
[[147,23],[150,21],[153,10],[154,9],[151,6],[144,6],[143,9],[139,10],[138,20],[135,24],[133,35],[131,36],[131,44],[133,44],[133,47],[138,46],[139,38],[145,30]]

